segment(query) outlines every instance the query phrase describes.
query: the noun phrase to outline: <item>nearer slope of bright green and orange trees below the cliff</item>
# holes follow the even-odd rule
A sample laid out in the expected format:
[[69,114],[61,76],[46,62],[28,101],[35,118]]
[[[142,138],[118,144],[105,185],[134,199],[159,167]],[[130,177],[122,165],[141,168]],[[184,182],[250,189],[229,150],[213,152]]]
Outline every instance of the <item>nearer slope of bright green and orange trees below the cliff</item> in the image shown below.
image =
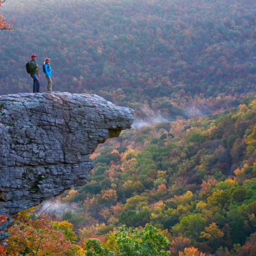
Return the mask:
[[[67,220],[74,225],[81,248],[85,248],[83,242],[95,242],[89,238],[100,240],[101,244],[86,247],[86,255],[94,255],[89,252],[96,248],[102,253],[95,255],[112,255],[108,252],[124,249],[128,241],[134,243],[130,239],[141,242],[143,248],[148,240],[136,238],[138,230],[117,228],[123,224],[144,228],[147,223],[170,240],[158,243],[158,252],[161,248],[169,251],[162,255],[197,256],[198,251],[218,256],[255,255],[255,121],[256,100],[248,100],[226,114],[123,132],[96,150],[92,156],[96,169],[88,183],[62,195],[58,204],[69,210],[62,215],[52,212],[54,222],[48,229],[60,225],[58,230],[67,232],[72,228]],[[23,215],[9,230],[10,252],[20,250],[17,244],[29,238],[24,235],[17,240],[18,230],[27,232],[27,224],[37,230],[48,218],[36,225],[35,220],[27,220],[28,213]],[[56,224],[56,220],[64,222]],[[157,236],[161,238],[152,226],[140,232],[147,239],[154,234],[150,238],[153,244]]]

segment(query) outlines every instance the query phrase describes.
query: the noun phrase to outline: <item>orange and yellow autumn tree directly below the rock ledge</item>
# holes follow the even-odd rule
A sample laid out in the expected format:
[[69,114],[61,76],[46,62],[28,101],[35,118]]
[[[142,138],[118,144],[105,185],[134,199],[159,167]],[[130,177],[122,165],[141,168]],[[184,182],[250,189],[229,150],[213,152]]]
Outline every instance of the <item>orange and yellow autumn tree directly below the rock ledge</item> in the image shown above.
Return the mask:
[[63,256],[83,255],[82,248],[74,244],[76,240],[72,224],[51,222],[46,215],[33,216],[36,208],[18,213],[13,226],[8,229],[10,237],[6,239],[7,255]]

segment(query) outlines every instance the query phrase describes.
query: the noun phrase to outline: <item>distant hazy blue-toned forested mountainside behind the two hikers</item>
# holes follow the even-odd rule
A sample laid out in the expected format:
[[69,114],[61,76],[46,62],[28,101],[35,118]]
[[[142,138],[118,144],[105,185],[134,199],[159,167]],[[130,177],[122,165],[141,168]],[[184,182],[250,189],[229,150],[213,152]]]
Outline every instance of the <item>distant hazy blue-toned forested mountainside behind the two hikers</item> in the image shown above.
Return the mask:
[[[32,53],[41,64],[52,58],[54,90],[144,104],[168,118],[191,106],[203,114],[237,106],[255,88],[252,0],[12,0],[1,9],[15,26],[0,36],[0,94],[31,91]],[[195,94],[232,98],[216,107]]]

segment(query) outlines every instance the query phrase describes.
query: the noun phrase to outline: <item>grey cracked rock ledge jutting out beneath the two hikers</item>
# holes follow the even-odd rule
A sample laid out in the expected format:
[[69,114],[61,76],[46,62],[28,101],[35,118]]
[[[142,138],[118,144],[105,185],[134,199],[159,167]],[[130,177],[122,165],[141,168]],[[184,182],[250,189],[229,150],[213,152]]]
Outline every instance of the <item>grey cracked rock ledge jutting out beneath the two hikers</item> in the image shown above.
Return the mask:
[[0,214],[86,182],[98,143],[130,128],[133,110],[96,95],[0,96]]

